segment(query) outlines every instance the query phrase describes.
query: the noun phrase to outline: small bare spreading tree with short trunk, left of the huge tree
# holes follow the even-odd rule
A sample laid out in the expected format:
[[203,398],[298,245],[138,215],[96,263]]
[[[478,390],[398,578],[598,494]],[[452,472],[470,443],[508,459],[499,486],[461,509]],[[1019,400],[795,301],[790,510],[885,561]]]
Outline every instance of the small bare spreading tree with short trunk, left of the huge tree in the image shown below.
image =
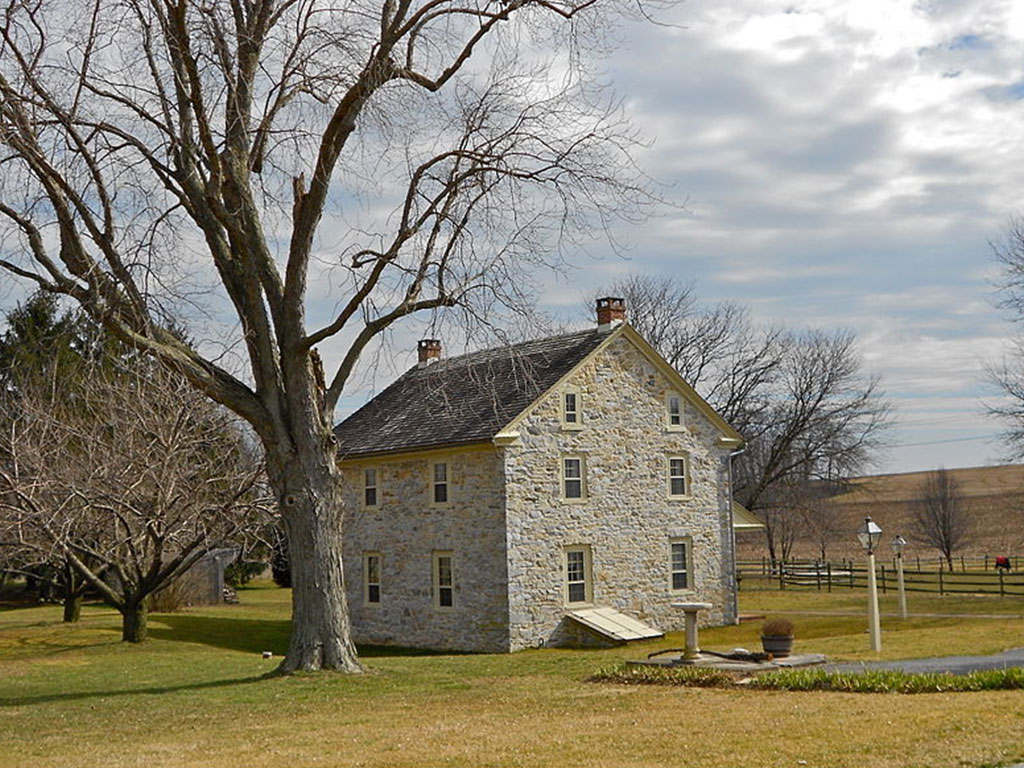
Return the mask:
[[0,547],[70,568],[146,636],[146,601],[265,524],[261,468],[238,423],[145,359],[95,364],[8,400]]

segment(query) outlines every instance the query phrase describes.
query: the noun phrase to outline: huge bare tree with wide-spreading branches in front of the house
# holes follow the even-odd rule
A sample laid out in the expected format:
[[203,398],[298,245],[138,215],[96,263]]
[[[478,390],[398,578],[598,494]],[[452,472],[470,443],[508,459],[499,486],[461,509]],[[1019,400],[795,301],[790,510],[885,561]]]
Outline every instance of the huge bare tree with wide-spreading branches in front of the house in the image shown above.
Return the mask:
[[[650,202],[588,80],[622,6],[3,0],[0,266],[253,426],[292,553],[283,671],[359,669],[332,422],[364,350],[416,312],[525,309],[531,267]],[[170,331],[202,299],[226,351]]]

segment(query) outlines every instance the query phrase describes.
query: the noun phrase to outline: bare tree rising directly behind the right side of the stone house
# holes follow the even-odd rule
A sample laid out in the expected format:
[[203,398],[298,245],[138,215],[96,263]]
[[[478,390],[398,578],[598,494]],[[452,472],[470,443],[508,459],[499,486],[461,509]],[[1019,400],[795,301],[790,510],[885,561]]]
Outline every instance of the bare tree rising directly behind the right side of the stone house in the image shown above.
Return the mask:
[[808,500],[861,470],[880,446],[889,404],[846,331],[795,332],[736,304],[706,306],[693,286],[634,275],[630,323],[745,439],[734,494],[765,522],[769,554],[787,552]]

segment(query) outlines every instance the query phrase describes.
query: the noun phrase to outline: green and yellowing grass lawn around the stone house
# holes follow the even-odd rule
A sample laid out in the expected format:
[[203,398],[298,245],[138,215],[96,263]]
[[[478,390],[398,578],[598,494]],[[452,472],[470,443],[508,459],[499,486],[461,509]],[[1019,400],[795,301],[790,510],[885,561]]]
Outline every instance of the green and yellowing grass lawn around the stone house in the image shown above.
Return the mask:
[[[0,611],[0,766],[997,766],[1024,760],[1024,691],[920,695],[663,688],[582,682],[678,635],[604,651],[424,654],[368,648],[369,674],[264,678],[284,651],[289,593],[160,614],[122,644],[119,616],[86,606]],[[787,614],[797,650],[844,658],[993,652],[1024,618],[883,622],[867,650],[863,593],[741,593]],[[1019,601],[935,598],[928,612],[1024,613]],[[931,603],[930,603],[931,604]],[[911,610],[924,608],[911,601]],[[941,608],[941,609],[940,609]],[[889,609],[885,603],[883,610]],[[758,624],[701,644],[758,645]],[[803,762],[801,762],[803,761]]]

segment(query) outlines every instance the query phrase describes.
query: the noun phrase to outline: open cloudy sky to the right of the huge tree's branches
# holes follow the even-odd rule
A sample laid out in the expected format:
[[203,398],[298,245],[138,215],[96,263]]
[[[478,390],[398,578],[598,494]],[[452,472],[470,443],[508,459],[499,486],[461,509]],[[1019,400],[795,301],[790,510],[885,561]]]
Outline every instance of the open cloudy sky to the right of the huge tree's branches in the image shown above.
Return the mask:
[[990,240],[1024,189],[1024,3],[689,0],[637,26],[609,75],[687,199],[552,287],[577,310],[609,278],[695,281],[791,328],[847,328],[896,408],[897,472],[1002,458],[982,415]]

